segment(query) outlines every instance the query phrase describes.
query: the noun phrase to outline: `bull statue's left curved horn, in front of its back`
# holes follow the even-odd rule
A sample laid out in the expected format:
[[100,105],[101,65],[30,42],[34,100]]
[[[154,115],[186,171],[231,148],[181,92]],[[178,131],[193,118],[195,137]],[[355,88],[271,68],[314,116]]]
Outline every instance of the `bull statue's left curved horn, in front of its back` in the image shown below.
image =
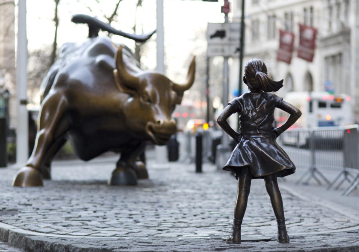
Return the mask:
[[115,76],[117,75],[117,78],[119,78],[118,81],[125,84],[129,88],[137,89],[140,87],[140,81],[139,81],[138,77],[127,72],[125,63],[123,63],[123,59],[122,59],[122,48],[123,47],[124,47],[123,45],[120,45],[120,47],[118,47],[118,50],[116,52],[117,74],[115,74]]

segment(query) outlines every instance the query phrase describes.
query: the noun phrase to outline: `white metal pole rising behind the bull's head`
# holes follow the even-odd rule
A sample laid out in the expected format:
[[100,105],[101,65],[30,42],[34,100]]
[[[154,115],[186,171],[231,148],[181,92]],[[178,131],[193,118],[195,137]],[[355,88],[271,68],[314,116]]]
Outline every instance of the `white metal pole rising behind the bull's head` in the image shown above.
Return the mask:
[[[156,19],[157,19],[157,67],[156,70],[164,73],[164,27],[163,27],[163,0],[157,0],[156,5]],[[155,146],[155,155],[157,164],[164,164],[167,162],[167,148],[166,146]]]

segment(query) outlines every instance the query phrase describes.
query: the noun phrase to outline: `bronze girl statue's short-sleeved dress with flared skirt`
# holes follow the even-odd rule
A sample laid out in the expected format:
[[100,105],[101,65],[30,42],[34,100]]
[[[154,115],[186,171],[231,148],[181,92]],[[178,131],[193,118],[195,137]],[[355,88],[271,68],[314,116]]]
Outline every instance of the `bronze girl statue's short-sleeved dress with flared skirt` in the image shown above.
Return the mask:
[[241,139],[223,170],[233,171],[249,166],[252,178],[276,173],[284,177],[295,172],[295,165],[277,144],[272,134],[274,109],[283,98],[267,92],[243,93],[228,104],[239,114]]

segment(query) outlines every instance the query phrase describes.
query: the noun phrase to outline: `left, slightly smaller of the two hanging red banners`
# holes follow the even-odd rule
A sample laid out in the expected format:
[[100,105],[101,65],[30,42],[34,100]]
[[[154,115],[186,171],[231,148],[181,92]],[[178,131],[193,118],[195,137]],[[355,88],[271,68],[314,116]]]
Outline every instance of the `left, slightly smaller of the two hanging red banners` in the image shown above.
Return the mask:
[[290,64],[294,48],[294,33],[279,30],[279,34],[279,49],[277,53],[277,60]]

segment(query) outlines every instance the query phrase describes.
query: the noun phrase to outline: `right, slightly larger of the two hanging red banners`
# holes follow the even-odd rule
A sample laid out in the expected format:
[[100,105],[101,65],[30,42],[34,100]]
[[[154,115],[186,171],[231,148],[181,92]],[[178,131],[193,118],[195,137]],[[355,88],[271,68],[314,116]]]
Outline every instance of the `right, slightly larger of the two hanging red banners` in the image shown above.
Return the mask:
[[299,24],[298,58],[313,61],[317,29]]

